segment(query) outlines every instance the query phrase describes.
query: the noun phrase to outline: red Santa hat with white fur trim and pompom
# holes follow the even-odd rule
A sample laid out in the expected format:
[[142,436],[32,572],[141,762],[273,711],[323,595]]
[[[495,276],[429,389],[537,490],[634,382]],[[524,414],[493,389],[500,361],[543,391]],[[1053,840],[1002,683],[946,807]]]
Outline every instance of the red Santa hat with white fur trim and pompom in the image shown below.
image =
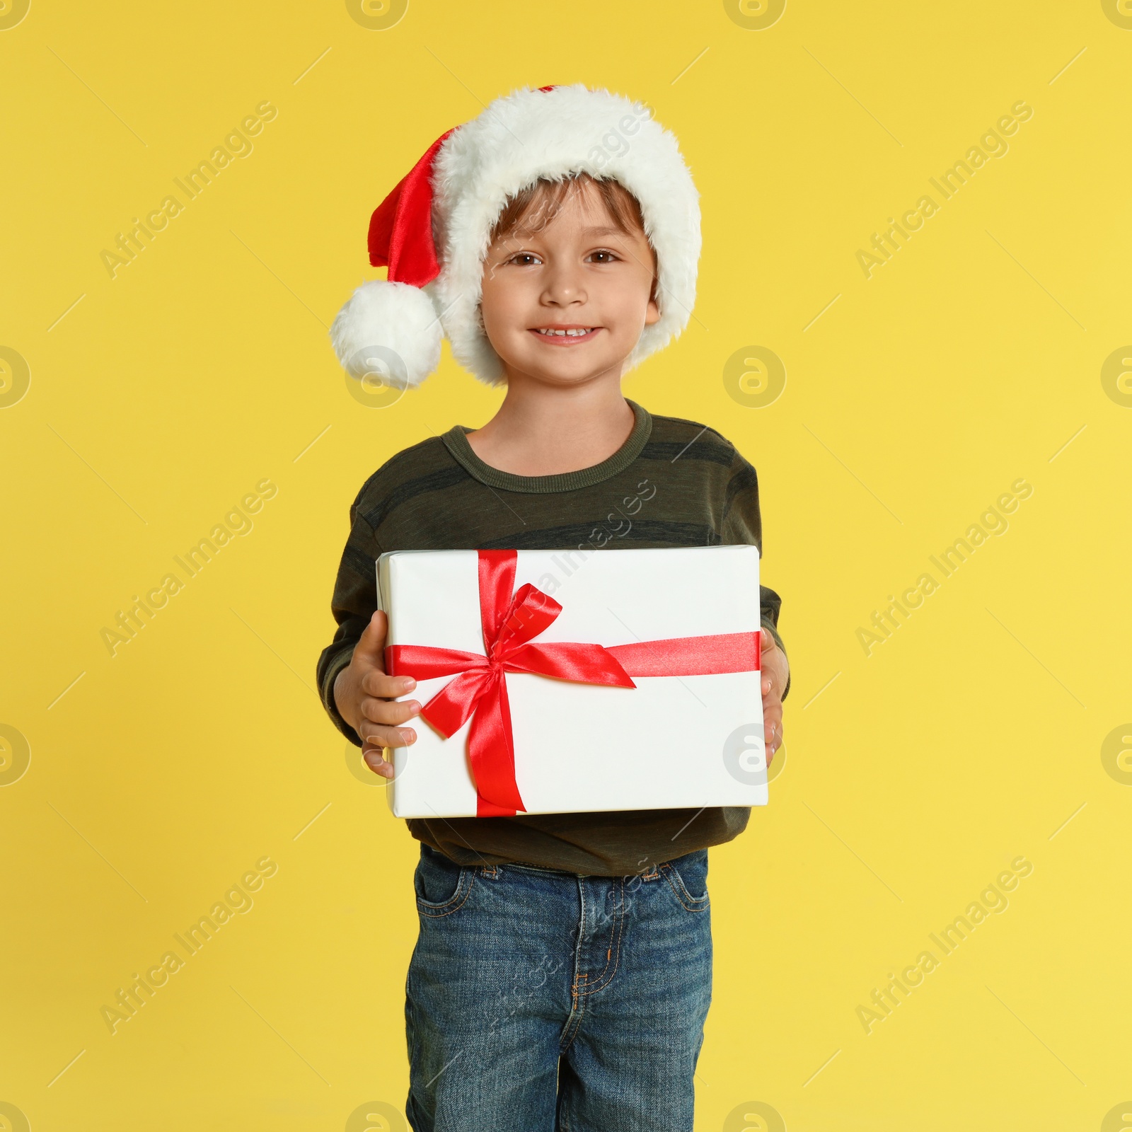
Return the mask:
[[443,134],[375,209],[369,261],[388,280],[363,283],[331,327],[348,372],[413,387],[456,360],[488,385],[504,378],[479,316],[482,264],[508,198],[540,179],[589,173],[615,180],[641,205],[657,252],[660,320],[646,326],[626,370],[687,325],[700,258],[698,194],[676,138],[643,104],[608,91],[524,87]]

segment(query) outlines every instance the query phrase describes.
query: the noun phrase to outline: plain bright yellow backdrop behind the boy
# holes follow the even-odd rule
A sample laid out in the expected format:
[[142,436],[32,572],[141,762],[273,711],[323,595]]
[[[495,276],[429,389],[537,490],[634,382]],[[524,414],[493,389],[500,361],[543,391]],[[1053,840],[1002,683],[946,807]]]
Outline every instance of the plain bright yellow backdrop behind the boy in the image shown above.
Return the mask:
[[[362,481],[500,393],[446,353],[366,408],[326,331],[434,138],[584,82],[653,106],[694,172],[695,317],[625,392],[757,466],[794,664],[771,804],[711,856],[696,1127],[1100,1129],[1132,1097],[1132,789],[1101,761],[1132,719],[1132,409],[1100,377],[1132,342],[1130,16],[413,0],[367,29],[341,2],[33,0],[0,31],[0,345],[31,370],[0,410],[0,723],[31,747],[0,790],[0,1101],[35,1132],[403,1105],[418,844],[314,670]],[[254,152],[112,280],[101,251],[264,100]],[[1018,100],[1009,154],[866,278],[857,250]],[[722,378],[753,345],[788,375],[761,409]],[[866,655],[1020,477],[1010,530]],[[100,631],[264,478],[255,529],[112,658]],[[265,855],[254,909],[111,1035],[101,1007]],[[866,1034],[857,1006],[1019,855],[1010,908]]]

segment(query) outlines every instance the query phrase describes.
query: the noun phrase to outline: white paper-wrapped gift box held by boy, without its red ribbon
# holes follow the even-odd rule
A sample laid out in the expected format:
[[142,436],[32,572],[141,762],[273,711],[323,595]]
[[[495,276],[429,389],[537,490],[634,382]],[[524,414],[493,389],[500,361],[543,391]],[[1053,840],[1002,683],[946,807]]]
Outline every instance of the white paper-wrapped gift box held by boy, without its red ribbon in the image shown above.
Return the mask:
[[[612,648],[717,634],[753,634],[757,643],[756,547],[494,554],[514,557],[508,598],[530,583],[561,607],[531,644]],[[377,589],[389,619],[386,645],[455,649],[483,658],[480,573],[475,550],[381,555]],[[752,644],[741,640],[744,646]],[[732,642],[712,645],[726,646],[729,657],[741,651]],[[658,651],[683,654],[685,648]],[[757,649],[753,655],[741,661],[751,670],[704,674],[700,667],[696,675],[633,676],[626,663],[635,687],[507,671],[518,812],[766,805],[761,674],[752,667]],[[396,671],[412,670],[397,661]],[[419,678],[400,698],[427,707],[455,678]],[[486,700],[477,711],[487,711]],[[392,748],[395,773],[387,797],[395,816],[484,813],[478,809],[468,754],[472,724],[469,719],[445,738],[421,717],[410,721],[417,741]]]

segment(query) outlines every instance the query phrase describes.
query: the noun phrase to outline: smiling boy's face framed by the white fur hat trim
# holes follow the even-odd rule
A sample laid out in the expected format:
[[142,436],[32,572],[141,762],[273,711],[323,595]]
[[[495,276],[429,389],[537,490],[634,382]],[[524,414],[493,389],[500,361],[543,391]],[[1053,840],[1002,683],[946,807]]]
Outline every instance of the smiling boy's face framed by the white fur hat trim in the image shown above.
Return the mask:
[[483,263],[483,327],[508,380],[619,377],[641,332],[660,318],[652,265],[644,233],[619,231],[591,182],[575,182],[558,208],[532,207]]

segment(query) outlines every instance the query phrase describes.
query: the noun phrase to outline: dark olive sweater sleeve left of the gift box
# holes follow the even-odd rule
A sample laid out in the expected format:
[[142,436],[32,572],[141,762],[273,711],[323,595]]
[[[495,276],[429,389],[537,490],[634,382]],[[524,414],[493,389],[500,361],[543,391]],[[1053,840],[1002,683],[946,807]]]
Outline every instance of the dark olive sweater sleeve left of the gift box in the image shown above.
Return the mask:
[[355,746],[362,745],[358,732],[342,718],[334,702],[334,681],[350,663],[354,645],[361,638],[369,619],[377,609],[376,561],[381,554],[372,528],[358,511],[358,499],[350,507],[350,537],[346,539],[331,612],[337,621],[334,640],[318,658],[318,694],[334,726]]

